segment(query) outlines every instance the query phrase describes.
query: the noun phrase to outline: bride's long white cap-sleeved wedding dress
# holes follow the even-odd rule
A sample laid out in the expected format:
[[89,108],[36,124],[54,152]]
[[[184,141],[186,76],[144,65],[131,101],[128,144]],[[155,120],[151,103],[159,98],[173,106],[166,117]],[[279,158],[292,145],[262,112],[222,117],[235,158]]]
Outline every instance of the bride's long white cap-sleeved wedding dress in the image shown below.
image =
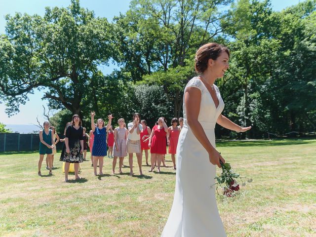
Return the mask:
[[[198,121],[213,147],[214,128],[218,116],[224,109],[219,89],[214,85],[219,105],[215,103],[198,78],[191,79],[184,89],[197,87],[201,91]],[[162,237],[226,237],[219,216],[215,188],[216,166],[211,164],[208,153],[192,133],[183,104],[184,124],[177,147],[176,187],[172,208],[163,229]]]

